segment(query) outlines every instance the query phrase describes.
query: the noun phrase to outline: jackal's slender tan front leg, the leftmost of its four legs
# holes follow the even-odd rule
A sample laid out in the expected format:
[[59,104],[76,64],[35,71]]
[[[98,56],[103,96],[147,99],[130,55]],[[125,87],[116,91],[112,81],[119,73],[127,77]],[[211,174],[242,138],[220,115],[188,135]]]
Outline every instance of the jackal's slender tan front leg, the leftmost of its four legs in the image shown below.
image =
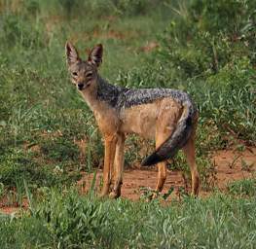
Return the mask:
[[109,187],[111,183],[111,168],[114,163],[117,136],[108,135],[105,139],[105,157],[103,168],[103,187],[100,196],[107,196],[109,193]]

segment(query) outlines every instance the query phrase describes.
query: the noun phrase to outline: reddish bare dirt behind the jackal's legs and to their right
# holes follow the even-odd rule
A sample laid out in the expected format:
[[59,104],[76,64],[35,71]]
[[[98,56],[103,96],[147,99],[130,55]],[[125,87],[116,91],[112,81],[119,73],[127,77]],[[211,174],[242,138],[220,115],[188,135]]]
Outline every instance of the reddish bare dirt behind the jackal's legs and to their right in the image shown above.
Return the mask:
[[[229,182],[255,177],[256,148],[249,148],[244,152],[234,150],[217,151],[212,156],[212,161],[215,176],[213,186],[220,191],[225,191]],[[155,189],[157,177],[156,167],[125,170],[122,196],[132,200],[139,199],[142,194],[139,190],[143,188]],[[92,178],[93,174],[85,173],[78,182],[78,186],[83,194],[90,190]],[[101,179],[102,170],[98,170],[95,181],[97,191],[99,191]],[[163,193],[167,193],[170,188],[174,188],[173,195],[178,196],[180,188],[187,189],[186,182],[182,177],[182,171],[167,171]],[[209,195],[210,192],[201,188],[200,196]]]

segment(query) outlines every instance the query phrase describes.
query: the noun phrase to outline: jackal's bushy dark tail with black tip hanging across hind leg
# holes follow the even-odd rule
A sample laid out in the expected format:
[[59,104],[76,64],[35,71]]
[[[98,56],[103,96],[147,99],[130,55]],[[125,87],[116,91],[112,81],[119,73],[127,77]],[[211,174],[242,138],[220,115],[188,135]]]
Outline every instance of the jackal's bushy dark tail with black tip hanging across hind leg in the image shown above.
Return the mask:
[[153,165],[173,158],[178,150],[187,143],[192,132],[192,119],[195,110],[191,102],[185,103],[183,107],[183,113],[172,135],[153,154],[142,161],[142,166]]

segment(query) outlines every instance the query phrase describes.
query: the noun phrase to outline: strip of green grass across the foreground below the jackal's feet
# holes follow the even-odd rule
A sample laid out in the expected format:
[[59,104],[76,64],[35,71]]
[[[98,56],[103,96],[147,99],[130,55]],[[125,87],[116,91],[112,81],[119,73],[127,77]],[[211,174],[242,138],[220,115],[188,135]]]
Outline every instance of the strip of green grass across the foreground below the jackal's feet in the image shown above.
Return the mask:
[[[0,218],[1,248],[254,248],[255,198],[185,197],[163,206],[48,191],[30,212]],[[14,232],[17,231],[17,232]]]

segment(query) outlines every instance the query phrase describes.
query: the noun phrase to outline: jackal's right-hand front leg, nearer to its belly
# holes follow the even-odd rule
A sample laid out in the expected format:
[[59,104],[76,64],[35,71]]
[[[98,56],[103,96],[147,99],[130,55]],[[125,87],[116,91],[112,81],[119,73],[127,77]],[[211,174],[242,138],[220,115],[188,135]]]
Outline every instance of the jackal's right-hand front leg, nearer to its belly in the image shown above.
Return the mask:
[[116,145],[116,154],[113,165],[113,189],[109,194],[111,198],[117,198],[121,196],[121,187],[123,184],[123,171],[124,171],[124,151],[125,151],[125,135],[119,134],[117,145]]

